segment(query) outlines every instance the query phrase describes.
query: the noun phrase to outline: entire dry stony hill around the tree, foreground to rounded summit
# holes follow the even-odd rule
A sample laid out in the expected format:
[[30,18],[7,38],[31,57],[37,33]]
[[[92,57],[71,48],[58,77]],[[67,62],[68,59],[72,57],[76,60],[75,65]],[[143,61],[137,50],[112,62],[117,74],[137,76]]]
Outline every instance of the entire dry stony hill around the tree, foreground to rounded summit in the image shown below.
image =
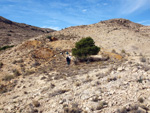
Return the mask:
[[[106,31],[113,27],[117,29],[109,35]],[[129,20],[108,20],[48,34],[56,41],[41,35],[2,51],[0,113],[150,113],[150,56],[145,53],[149,51],[149,30]],[[110,45],[107,37],[99,39],[121,32],[125,36],[119,42],[109,40]],[[139,46],[135,38],[139,36],[147,47],[132,51],[127,45],[122,51],[119,44],[126,44],[125,37],[131,41],[130,35],[137,42],[134,46]],[[75,65],[72,58],[68,66],[65,52],[70,53],[82,36],[93,37],[101,46],[101,52],[93,56],[100,60]],[[114,40],[118,45],[111,45]]]

